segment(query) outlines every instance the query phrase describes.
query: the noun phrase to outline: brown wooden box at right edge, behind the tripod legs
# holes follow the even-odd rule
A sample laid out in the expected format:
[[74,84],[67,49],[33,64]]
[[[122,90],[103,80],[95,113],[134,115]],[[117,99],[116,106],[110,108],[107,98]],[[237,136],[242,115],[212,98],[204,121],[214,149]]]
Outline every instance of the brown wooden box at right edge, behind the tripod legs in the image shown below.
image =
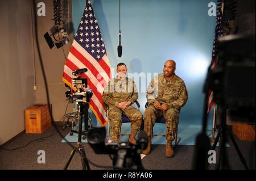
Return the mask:
[[240,140],[255,141],[255,124],[233,121],[232,131]]

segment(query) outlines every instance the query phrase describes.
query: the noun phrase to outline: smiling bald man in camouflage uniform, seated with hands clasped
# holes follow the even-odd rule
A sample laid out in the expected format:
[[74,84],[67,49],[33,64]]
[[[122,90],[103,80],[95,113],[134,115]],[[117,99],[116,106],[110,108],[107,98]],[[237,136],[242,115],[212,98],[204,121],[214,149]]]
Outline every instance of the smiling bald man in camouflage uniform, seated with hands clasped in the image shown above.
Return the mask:
[[143,154],[151,150],[152,128],[159,116],[166,120],[166,157],[173,157],[172,141],[175,140],[176,125],[179,123],[180,108],[188,100],[188,92],[183,79],[175,74],[176,63],[167,60],[162,74],[152,79],[147,89],[147,102],[149,103],[144,115],[144,131],[148,136],[148,146]]

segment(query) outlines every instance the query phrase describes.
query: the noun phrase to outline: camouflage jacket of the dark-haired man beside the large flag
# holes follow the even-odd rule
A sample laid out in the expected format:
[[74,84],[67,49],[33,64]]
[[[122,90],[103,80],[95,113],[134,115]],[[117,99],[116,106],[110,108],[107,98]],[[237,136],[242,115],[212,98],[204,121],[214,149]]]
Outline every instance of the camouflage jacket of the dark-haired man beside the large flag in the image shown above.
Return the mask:
[[130,101],[131,104],[138,99],[138,90],[133,79],[125,78],[120,81],[117,78],[111,79],[105,87],[102,99],[104,103],[118,107],[121,102]]

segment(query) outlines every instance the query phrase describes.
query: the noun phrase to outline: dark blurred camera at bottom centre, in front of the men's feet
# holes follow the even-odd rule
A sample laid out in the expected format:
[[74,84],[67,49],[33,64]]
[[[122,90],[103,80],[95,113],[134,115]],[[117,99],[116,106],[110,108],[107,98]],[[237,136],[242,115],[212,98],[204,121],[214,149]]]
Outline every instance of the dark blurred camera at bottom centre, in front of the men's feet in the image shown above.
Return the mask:
[[139,132],[136,145],[128,142],[105,142],[106,129],[93,128],[87,134],[87,140],[96,154],[113,154],[114,169],[142,170],[141,152],[147,148],[147,134]]

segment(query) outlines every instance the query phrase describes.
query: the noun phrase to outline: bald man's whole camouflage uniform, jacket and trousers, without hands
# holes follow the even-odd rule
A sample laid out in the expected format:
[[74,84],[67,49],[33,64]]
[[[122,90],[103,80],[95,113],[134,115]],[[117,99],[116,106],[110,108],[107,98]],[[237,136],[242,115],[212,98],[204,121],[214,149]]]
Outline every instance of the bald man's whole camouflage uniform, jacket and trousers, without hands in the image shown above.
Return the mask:
[[[144,115],[144,131],[148,137],[152,137],[152,128],[155,120],[159,116],[164,116],[166,120],[166,139],[173,141],[177,124],[179,123],[180,108],[188,100],[188,92],[183,79],[176,74],[170,82],[164,78],[164,74],[159,74],[152,79],[147,89],[147,102],[150,103]],[[168,110],[162,111],[154,107],[154,102],[166,103]]]

